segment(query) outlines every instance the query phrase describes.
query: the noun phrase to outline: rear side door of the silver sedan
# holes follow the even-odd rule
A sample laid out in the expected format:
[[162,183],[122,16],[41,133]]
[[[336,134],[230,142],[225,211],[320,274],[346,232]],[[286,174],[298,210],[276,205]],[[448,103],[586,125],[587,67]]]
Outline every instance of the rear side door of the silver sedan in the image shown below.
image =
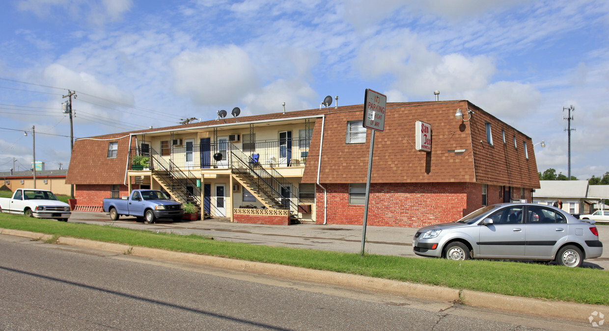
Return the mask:
[[525,217],[527,257],[554,256],[557,245],[565,241],[568,233],[566,218],[549,207],[527,206]]

